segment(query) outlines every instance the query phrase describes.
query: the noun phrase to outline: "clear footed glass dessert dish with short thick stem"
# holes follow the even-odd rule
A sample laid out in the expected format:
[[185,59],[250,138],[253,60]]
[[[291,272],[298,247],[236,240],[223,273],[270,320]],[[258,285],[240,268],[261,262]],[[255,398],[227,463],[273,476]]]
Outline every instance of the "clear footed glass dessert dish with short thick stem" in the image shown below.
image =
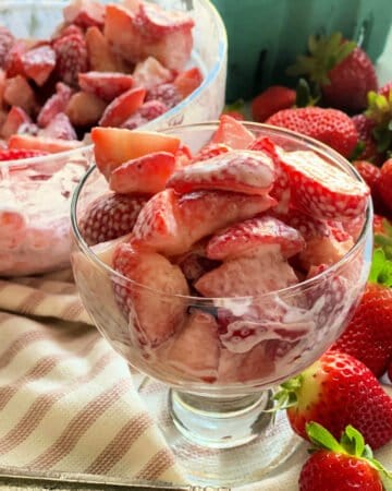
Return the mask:
[[[217,128],[217,122],[200,123],[163,133],[180,137],[197,153]],[[286,152],[313,151],[360,181],[351,165],[323,144],[268,125],[245,123],[245,128]],[[259,480],[298,444],[284,414],[273,417],[269,411],[274,387],[328,349],[348,322],[366,284],[372,247],[370,201],[350,251],[313,277],[287,286],[282,279],[286,271],[267,254],[259,271],[275,290],[206,298],[162,292],[159,270],[156,288],[132,280],[111,267],[108,246],[85,242],[81,219],[106,190],[107,182],[91,167],[72,202],[71,261],[85,308],[110,345],[146,375],[140,394],[145,392],[147,400],[148,393],[155,392],[145,391],[150,380],[167,387],[158,418],[166,420],[168,441],[191,480],[205,486]],[[137,299],[138,306],[124,302],[127,298]],[[149,404],[157,411],[159,404]]]

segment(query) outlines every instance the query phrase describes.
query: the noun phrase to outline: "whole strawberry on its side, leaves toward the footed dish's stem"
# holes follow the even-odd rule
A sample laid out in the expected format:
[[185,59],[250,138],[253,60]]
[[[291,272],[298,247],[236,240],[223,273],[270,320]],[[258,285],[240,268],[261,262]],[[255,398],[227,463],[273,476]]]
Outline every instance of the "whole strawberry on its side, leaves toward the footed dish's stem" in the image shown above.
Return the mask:
[[282,387],[277,398],[290,396],[287,417],[304,439],[308,439],[306,423],[316,421],[336,439],[353,424],[375,450],[392,440],[392,398],[372,372],[350,355],[327,351]]

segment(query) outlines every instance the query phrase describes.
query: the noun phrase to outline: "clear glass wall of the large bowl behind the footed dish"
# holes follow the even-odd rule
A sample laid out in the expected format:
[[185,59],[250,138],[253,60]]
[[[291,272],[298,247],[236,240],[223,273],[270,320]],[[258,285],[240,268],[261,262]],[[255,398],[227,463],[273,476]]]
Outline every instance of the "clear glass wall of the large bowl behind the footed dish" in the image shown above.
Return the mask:
[[[206,117],[218,118],[224,105],[228,41],[217,10],[208,0],[156,3],[168,10],[186,11],[195,20],[189,65],[201,70],[204,81],[189,96],[144,128],[158,130]],[[48,38],[62,21],[66,4],[68,0],[4,0],[0,4],[0,25],[15,37]],[[0,276],[41,274],[69,265],[70,197],[90,161],[90,154],[91,145],[85,144],[76,151],[0,163]],[[74,166],[75,158],[78,167]],[[26,167],[28,172],[22,171]],[[58,172],[51,175],[53,169]],[[19,187],[22,175],[23,183]],[[66,177],[71,179],[65,182]]]

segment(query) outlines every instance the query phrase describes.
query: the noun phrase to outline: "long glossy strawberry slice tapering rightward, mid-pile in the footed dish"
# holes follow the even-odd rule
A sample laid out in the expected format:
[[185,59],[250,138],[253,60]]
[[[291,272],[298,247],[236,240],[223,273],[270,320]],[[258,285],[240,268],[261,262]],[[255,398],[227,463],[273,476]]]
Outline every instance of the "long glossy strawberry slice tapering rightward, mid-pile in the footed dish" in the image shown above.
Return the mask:
[[203,237],[274,204],[270,196],[223,191],[179,195],[173,189],[155,194],[134,227],[142,243],[167,254],[183,254]]

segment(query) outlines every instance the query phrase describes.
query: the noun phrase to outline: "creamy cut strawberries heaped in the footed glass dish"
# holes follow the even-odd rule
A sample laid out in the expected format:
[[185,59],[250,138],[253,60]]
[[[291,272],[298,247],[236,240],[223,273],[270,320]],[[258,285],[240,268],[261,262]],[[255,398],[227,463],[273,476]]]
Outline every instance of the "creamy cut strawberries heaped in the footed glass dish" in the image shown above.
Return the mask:
[[107,189],[77,219],[102,270],[72,260],[131,363],[171,383],[268,385],[332,344],[368,273],[369,189],[354,173],[230,116],[197,151],[175,129],[91,136]]

